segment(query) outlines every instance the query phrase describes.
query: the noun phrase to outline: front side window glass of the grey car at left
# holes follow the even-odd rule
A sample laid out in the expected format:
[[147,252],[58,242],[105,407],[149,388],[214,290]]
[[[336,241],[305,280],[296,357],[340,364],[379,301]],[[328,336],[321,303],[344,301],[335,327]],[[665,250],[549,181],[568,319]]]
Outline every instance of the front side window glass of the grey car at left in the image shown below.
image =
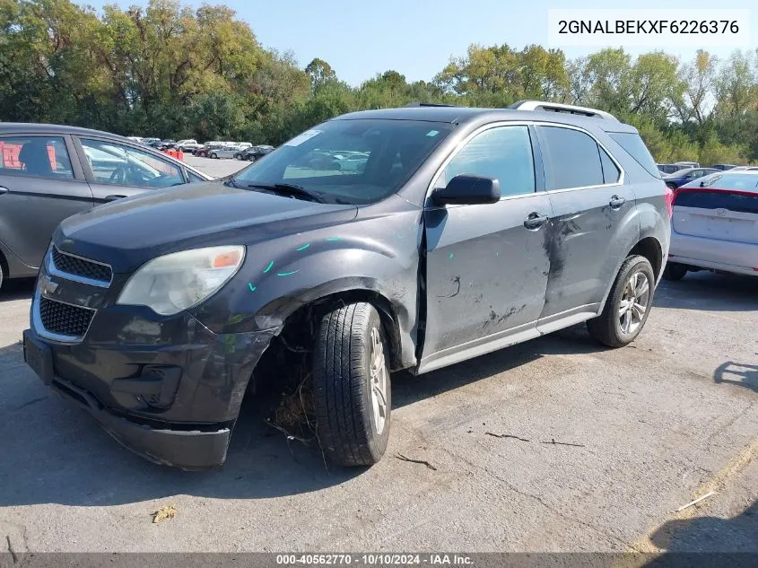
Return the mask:
[[99,183],[169,188],[185,183],[179,166],[131,146],[82,139],[92,175]]

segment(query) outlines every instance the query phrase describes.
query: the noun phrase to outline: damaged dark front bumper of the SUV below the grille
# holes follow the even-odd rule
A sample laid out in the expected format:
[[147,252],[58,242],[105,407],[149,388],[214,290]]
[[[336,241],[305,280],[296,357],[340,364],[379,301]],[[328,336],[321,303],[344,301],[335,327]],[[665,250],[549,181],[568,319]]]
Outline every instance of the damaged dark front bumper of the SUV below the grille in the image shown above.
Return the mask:
[[24,331],[24,359],[57,392],[153,462],[211,468],[226,459],[252,372],[274,330],[213,334],[189,314],[99,310],[80,343]]

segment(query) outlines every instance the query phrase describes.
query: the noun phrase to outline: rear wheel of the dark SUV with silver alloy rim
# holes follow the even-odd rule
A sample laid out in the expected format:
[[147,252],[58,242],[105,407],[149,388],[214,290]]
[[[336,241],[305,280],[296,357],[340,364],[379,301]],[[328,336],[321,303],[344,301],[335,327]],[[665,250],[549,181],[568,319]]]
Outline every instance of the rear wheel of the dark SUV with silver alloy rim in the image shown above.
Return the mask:
[[[628,286],[632,284],[634,275],[638,277],[637,288],[632,293]],[[647,280],[647,287],[640,282],[640,276]],[[608,294],[603,312],[587,322],[589,335],[608,347],[623,347],[632,343],[648,320],[653,305],[655,283],[653,267],[647,258],[638,255],[624,260],[611,293]],[[632,299],[633,303],[630,305],[629,301]],[[621,310],[625,306],[629,306],[629,309],[622,314]],[[644,307],[641,314],[638,306]]]

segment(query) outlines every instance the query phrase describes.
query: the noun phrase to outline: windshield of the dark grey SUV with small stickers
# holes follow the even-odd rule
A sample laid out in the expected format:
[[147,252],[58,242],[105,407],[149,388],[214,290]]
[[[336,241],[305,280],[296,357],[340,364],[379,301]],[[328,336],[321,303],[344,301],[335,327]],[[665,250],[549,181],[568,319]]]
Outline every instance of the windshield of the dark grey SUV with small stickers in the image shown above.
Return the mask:
[[297,185],[327,203],[375,203],[401,188],[451,130],[416,120],[332,120],[284,143],[234,182]]

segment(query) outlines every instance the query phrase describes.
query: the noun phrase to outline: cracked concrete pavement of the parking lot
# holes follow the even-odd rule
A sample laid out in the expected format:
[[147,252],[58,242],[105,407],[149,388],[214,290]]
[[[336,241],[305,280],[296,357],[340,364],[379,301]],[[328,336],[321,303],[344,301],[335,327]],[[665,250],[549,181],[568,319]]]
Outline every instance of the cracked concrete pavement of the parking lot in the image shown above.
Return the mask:
[[[577,327],[398,374],[388,454],[368,470],[327,470],[266,430],[270,396],[249,398],[227,465],[205,473],[133,456],[43,387],[18,345],[31,283],[13,283],[0,293],[0,552],[758,552],[755,283],[664,283],[620,350]],[[168,504],[176,518],[152,524]]]

